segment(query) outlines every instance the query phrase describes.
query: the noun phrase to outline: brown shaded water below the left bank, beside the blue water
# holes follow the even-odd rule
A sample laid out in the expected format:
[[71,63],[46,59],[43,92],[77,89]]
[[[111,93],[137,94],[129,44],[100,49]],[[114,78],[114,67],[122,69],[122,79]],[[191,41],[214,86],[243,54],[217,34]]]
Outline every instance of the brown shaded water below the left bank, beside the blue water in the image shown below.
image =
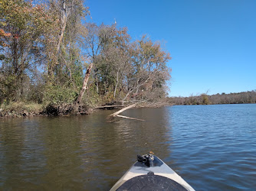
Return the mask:
[[107,123],[113,112],[1,121],[0,188],[107,190],[137,154],[154,151],[162,159],[169,157],[165,109],[130,109],[123,115],[146,121]]

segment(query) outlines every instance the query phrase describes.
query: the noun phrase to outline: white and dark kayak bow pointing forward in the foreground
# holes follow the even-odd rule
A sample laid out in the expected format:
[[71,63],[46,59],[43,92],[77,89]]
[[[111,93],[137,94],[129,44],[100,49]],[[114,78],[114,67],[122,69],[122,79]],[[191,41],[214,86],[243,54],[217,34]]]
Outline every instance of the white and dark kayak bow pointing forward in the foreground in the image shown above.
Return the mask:
[[138,155],[113,190],[195,190],[174,170],[153,154]]

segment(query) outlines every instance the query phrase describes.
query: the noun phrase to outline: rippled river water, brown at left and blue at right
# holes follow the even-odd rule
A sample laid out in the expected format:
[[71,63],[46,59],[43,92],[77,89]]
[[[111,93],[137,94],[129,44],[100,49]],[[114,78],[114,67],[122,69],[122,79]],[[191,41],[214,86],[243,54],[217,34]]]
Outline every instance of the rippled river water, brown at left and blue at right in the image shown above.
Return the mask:
[[196,190],[256,189],[256,104],[0,121],[0,189],[109,190],[153,151]]

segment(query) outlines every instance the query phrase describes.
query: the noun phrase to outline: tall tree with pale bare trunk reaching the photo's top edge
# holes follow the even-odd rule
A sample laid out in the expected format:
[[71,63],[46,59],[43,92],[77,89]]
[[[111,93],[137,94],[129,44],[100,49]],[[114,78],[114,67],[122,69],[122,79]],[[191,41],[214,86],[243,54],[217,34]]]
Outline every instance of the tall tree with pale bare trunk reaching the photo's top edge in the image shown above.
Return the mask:
[[77,38],[81,32],[81,21],[89,11],[84,6],[84,0],[49,0],[49,2],[51,12],[57,15],[58,27],[54,57],[49,62],[48,74],[53,79],[54,72],[56,73],[56,70],[59,72],[65,66],[71,76],[69,61],[74,63],[79,57],[77,53],[79,49],[76,47]]

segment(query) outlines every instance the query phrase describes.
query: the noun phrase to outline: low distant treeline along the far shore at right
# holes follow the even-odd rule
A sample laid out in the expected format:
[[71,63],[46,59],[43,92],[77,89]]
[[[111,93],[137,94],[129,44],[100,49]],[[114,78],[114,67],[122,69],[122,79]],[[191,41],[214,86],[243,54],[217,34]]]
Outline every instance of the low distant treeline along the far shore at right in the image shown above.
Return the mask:
[[172,105],[209,105],[209,104],[238,104],[256,103],[256,90],[229,94],[191,95],[189,97],[170,97],[168,102]]

